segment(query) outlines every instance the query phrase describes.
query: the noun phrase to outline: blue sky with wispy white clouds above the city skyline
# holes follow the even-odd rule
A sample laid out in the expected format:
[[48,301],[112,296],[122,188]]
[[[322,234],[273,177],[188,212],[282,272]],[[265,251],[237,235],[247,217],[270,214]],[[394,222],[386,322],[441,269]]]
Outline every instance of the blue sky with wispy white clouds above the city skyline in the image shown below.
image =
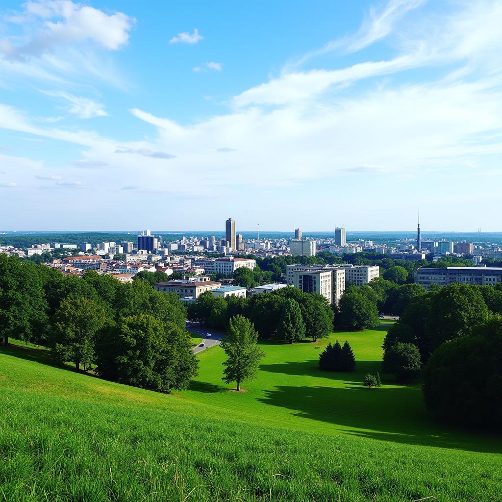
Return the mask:
[[500,231],[502,2],[0,3],[0,229]]

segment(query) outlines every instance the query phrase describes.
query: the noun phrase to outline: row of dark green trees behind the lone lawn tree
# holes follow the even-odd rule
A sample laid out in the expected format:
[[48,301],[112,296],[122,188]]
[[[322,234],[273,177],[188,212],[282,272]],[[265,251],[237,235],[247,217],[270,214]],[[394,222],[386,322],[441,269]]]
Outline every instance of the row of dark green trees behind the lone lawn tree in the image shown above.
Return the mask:
[[333,329],[334,313],[321,295],[303,293],[297,288],[282,288],[248,298],[215,297],[202,293],[190,303],[187,317],[215,329],[226,329],[236,315],[249,319],[262,338],[297,341],[326,338]]

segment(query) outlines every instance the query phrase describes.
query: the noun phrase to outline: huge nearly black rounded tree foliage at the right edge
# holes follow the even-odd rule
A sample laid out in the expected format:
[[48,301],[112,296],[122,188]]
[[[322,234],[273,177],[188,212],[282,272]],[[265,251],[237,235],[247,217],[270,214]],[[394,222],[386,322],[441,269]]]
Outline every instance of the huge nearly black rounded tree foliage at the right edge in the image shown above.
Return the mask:
[[427,407],[448,423],[502,427],[502,320],[443,343],[424,368]]

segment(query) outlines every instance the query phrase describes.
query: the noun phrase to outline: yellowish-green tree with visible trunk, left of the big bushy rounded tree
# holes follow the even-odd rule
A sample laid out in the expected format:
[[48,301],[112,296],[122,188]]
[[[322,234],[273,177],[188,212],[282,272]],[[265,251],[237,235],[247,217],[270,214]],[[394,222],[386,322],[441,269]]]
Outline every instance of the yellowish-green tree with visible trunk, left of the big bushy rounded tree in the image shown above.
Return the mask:
[[61,362],[73,362],[84,370],[94,362],[96,333],[104,326],[103,308],[83,296],[70,297],[61,302],[54,314],[54,329],[50,343],[53,357]]

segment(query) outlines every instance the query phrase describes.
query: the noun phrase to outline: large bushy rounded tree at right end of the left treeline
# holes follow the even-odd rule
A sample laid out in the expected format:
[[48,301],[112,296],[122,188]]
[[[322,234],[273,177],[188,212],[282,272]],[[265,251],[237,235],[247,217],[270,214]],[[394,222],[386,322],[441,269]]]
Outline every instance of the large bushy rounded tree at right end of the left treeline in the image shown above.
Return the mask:
[[186,389],[197,374],[190,336],[151,314],[122,317],[96,344],[98,374],[155,391]]

